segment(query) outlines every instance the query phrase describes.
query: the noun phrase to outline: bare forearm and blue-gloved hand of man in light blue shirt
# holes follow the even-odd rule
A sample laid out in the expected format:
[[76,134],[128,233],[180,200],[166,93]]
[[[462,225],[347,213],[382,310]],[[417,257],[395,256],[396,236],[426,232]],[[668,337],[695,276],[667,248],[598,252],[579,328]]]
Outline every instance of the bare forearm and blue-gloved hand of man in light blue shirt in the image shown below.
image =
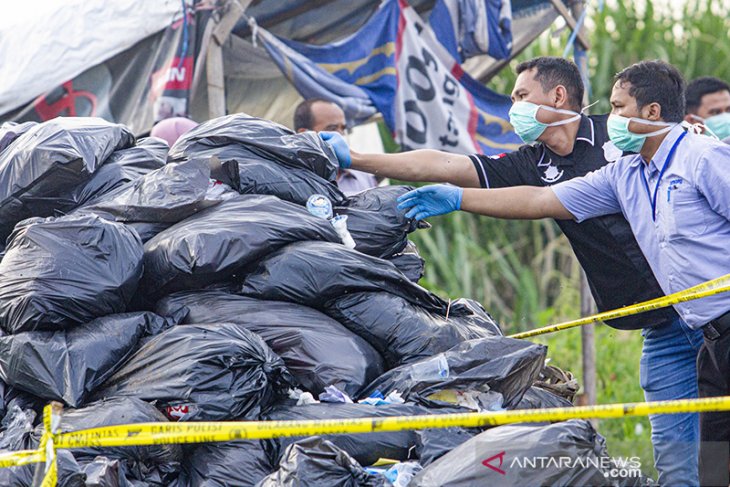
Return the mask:
[[549,187],[462,189],[436,184],[409,191],[398,202],[407,217],[418,220],[455,210],[510,219],[573,218]]

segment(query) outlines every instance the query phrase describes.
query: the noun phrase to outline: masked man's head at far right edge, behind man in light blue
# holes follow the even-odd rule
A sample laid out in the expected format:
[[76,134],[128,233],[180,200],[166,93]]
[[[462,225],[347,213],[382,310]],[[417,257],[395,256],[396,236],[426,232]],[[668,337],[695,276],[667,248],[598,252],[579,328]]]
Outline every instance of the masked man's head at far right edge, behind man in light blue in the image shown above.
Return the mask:
[[730,144],[730,85],[705,76],[687,85],[685,117],[689,123],[700,122],[707,131]]

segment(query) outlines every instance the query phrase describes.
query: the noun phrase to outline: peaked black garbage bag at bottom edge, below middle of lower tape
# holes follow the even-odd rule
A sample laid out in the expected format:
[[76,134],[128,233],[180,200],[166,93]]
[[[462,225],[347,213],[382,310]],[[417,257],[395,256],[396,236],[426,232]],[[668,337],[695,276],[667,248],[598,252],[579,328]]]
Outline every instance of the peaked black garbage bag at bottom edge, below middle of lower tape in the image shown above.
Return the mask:
[[371,474],[346,451],[313,436],[289,445],[272,473],[257,487],[384,487],[380,475]]

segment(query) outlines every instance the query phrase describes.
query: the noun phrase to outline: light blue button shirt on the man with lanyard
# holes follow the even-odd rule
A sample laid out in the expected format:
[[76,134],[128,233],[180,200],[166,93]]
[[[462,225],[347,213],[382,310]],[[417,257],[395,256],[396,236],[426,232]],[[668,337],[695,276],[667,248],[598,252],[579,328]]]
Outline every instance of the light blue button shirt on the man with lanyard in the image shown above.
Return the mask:
[[[730,145],[688,133],[659,180],[683,133],[681,126],[674,127],[649,164],[640,155],[625,156],[552,186],[578,222],[623,213],[666,294],[730,273]],[[650,194],[655,191],[654,219]],[[690,327],[700,328],[730,311],[730,293],[675,309]]]

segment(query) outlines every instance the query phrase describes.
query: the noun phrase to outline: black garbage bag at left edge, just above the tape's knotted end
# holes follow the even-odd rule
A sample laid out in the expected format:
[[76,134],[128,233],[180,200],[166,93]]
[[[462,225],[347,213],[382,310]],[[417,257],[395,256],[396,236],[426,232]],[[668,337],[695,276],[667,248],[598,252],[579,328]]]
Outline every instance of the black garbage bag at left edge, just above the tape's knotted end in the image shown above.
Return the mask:
[[71,330],[0,337],[0,378],[46,400],[80,407],[147,335],[169,324],[153,313],[97,318]]

